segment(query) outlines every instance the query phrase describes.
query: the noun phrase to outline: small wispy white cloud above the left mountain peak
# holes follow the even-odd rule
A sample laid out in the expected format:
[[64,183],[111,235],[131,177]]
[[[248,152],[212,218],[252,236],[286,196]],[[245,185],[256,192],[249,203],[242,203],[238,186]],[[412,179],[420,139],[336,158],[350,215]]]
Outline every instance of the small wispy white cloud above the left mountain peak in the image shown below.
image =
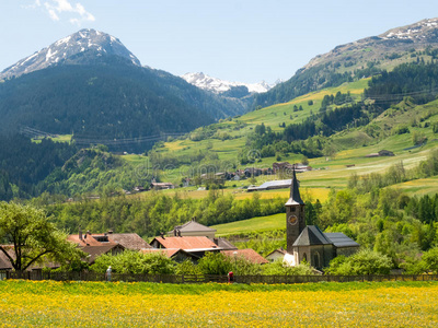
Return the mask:
[[35,0],[32,4],[23,8],[42,8],[55,22],[66,19],[71,24],[81,25],[83,22],[95,21],[93,14],[88,12],[80,2],[71,0]]

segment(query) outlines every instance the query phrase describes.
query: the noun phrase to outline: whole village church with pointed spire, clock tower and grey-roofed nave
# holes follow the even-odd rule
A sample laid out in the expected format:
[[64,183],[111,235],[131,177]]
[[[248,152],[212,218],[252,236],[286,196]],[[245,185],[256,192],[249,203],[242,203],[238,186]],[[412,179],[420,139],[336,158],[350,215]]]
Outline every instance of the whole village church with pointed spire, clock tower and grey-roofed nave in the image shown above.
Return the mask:
[[290,197],[286,207],[287,254],[285,261],[298,266],[307,261],[315,269],[328,267],[339,255],[349,256],[359,249],[359,244],[343,233],[323,233],[318,225],[306,225],[304,202],[293,171]]

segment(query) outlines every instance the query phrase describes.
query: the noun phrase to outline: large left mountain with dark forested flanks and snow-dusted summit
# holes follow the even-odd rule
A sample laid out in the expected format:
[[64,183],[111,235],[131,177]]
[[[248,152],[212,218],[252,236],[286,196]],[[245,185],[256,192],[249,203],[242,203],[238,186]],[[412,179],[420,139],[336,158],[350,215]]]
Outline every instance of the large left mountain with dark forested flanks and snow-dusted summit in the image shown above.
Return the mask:
[[141,67],[115,37],[93,30],[21,60],[2,77],[0,133],[26,126],[127,151],[142,152],[157,136],[188,132],[246,108],[240,99]]

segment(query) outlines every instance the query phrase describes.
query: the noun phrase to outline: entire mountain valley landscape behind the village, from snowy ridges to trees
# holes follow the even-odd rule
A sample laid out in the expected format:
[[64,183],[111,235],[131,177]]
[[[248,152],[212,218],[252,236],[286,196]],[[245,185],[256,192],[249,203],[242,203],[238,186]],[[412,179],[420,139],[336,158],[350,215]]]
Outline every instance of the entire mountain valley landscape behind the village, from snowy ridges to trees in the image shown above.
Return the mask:
[[0,199],[65,231],[148,241],[196,218],[267,256],[287,246],[290,190],[250,191],[297,169],[306,224],[418,273],[438,236],[430,22],[408,46],[393,37],[405,27],[338,46],[261,93],[201,73],[191,84],[82,30],[2,72]]

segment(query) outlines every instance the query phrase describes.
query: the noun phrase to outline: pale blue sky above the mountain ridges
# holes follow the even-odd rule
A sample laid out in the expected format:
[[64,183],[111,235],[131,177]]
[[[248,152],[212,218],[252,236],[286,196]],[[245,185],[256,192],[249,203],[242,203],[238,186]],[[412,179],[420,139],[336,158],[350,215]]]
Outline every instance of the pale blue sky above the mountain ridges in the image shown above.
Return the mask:
[[176,75],[272,83],[337,45],[436,17],[438,1],[0,0],[0,71],[95,28]]

